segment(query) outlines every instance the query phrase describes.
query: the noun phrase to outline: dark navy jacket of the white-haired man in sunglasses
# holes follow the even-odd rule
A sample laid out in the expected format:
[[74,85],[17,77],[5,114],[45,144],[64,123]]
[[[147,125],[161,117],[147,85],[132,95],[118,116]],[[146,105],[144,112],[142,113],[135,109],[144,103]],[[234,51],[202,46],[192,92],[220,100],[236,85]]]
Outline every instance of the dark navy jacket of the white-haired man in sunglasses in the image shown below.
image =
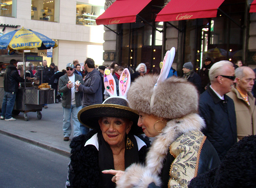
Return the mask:
[[208,87],[199,99],[199,112],[206,123],[204,135],[214,145],[220,159],[237,142],[237,121],[233,100],[224,95],[221,100]]

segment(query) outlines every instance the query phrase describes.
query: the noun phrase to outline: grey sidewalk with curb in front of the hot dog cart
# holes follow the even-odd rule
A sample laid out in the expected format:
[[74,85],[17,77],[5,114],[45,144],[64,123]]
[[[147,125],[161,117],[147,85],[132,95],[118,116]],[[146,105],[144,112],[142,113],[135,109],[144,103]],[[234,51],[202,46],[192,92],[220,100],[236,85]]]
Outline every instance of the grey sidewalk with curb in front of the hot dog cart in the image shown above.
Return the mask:
[[[69,156],[70,141],[63,141],[61,102],[48,106],[48,109],[42,109],[40,120],[37,119],[36,112],[28,113],[29,121],[24,120],[22,112],[18,116],[13,116],[16,121],[0,120],[0,133]],[[72,138],[73,131],[70,139]]]

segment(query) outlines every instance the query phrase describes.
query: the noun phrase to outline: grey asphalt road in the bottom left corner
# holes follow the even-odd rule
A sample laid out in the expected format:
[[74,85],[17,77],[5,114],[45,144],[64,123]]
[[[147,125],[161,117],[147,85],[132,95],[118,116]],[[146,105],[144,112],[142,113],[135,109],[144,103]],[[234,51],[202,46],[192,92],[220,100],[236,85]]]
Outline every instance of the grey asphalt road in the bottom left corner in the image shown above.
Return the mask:
[[0,187],[65,187],[69,157],[0,134]]

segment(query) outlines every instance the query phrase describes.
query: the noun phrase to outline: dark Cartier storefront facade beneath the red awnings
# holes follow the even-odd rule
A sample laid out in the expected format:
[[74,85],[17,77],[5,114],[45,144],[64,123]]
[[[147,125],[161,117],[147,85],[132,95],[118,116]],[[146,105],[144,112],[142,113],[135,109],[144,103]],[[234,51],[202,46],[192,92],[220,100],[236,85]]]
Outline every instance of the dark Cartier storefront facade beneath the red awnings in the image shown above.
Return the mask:
[[[191,19],[187,15],[177,16],[175,21],[155,21],[158,13],[172,1],[152,0],[142,8],[135,22],[106,25],[103,50],[108,56],[105,57],[115,54],[115,61],[133,68],[148,62],[153,71],[159,72],[165,52],[175,47],[173,67],[179,75],[185,62],[191,61],[200,69],[207,57],[215,62],[242,60],[244,65],[256,67],[256,13],[249,13],[253,0],[218,1],[220,6],[214,17],[204,14],[202,18]],[[108,9],[114,2],[106,0],[104,8]],[[109,63],[110,59],[104,61]]]

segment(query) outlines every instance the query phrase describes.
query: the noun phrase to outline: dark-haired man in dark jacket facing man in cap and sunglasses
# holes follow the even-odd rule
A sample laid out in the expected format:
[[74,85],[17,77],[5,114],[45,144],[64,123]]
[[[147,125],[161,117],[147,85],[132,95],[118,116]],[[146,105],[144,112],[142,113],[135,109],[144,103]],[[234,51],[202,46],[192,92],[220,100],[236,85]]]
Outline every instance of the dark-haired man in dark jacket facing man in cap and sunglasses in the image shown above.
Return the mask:
[[[101,89],[101,73],[96,70],[94,60],[87,58],[84,61],[84,69],[88,71],[86,77],[84,77],[84,84],[77,85],[79,91],[83,92],[82,105],[83,108],[92,104],[101,104],[102,101],[102,89]],[[86,135],[89,132],[89,128],[80,124],[82,135]]]

